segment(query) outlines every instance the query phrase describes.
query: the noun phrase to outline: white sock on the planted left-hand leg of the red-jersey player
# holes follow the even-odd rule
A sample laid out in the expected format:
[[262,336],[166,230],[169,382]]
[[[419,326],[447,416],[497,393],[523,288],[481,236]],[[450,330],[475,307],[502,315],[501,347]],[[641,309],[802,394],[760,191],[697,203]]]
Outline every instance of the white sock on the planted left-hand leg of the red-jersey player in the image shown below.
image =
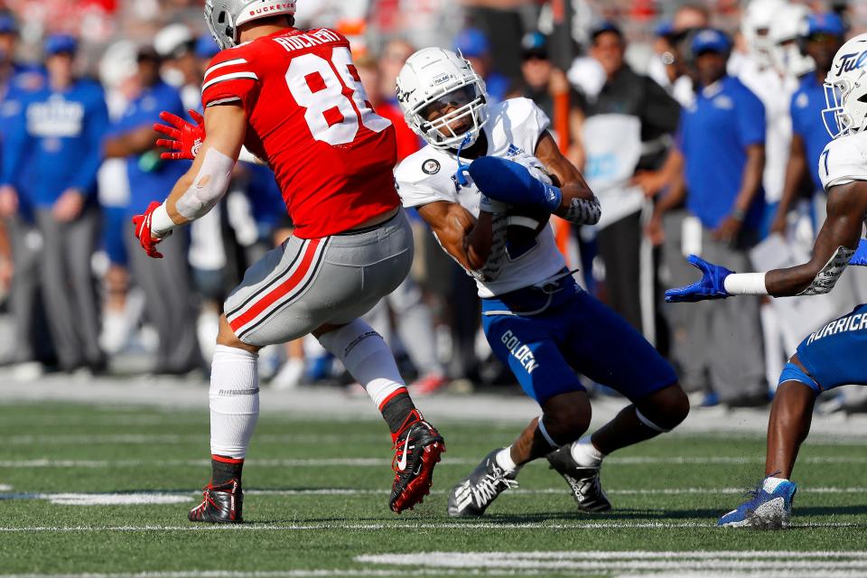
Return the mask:
[[210,452],[243,460],[259,417],[256,353],[225,345],[210,365]]

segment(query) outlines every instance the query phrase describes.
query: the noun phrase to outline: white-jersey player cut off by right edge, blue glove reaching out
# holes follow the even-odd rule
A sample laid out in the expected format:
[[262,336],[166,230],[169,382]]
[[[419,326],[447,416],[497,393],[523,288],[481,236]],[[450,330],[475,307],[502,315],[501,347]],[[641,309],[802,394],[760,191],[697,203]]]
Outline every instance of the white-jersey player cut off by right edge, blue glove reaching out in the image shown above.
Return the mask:
[[[767,273],[736,274],[697,256],[695,284],[669,289],[667,302],[731,295],[826,294],[848,265],[867,265],[867,33],[837,51],[825,77],[825,126],[834,140],[819,157],[828,195],[827,219],[804,265]],[[817,119],[818,120],[818,119]],[[789,480],[797,451],[809,433],[816,396],[846,384],[867,385],[867,303],[825,324],[797,347],[779,378],[770,410],[765,480],[749,501],[720,518],[720,526],[786,527],[797,486]]]

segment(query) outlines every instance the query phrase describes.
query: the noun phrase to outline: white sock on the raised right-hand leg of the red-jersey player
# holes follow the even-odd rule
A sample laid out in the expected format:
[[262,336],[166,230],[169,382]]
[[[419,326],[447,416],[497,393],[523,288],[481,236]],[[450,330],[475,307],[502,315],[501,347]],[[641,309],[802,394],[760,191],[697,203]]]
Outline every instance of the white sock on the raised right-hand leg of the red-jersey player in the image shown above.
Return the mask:
[[397,371],[395,356],[367,322],[357,319],[337,331],[325,333],[319,342],[343,362],[343,367],[365,388],[380,410],[396,391],[406,388]]

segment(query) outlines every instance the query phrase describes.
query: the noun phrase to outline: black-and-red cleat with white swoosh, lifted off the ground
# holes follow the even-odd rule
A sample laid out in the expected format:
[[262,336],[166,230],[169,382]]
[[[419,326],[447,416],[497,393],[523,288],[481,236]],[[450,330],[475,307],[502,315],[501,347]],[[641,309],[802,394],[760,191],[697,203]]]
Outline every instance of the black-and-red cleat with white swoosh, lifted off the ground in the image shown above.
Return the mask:
[[392,510],[400,514],[422,503],[431,492],[433,466],[443,452],[443,436],[414,409],[395,435],[395,457],[391,462],[395,482],[388,500]]

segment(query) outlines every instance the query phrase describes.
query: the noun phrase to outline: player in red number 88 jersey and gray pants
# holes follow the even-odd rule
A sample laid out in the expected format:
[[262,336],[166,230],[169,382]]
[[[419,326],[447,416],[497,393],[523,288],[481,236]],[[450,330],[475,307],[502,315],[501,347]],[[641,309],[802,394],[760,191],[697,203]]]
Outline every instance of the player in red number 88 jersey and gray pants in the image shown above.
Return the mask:
[[370,107],[350,44],[328,29],[294,28],[294,2],[207,0],[223,49],[202,86],[202,142],[163,203],[134,219],[150,256],[172,229],[225,193],[242,146],[275,172],[295,232],[247,270],[228,296],[210,378],[213,475],[200,522],[242,520],[241,469],[258,416],[257,351],[315,335],[367,390],[395,443],[390,507],[430,490],[443,438],[415,409],[386,343],[359,320],[400,284],[412,231],[400,209],[391,122]]

